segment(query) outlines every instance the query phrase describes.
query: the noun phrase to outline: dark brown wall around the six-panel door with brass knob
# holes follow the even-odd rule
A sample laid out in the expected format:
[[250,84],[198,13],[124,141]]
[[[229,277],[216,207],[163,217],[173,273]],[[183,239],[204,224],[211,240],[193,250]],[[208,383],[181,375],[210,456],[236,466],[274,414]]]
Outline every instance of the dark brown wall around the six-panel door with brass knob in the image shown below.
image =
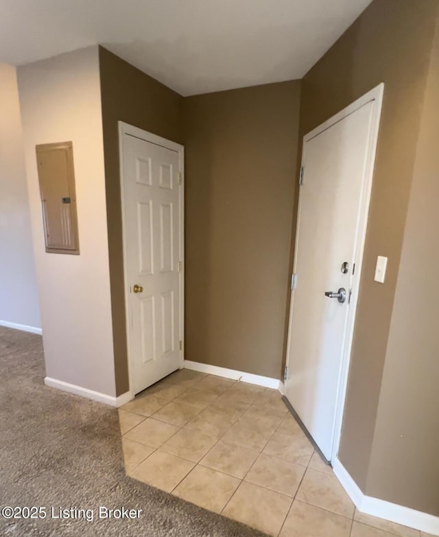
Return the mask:
[[99,47],[102,126],[110,263],[111,311],[117,396],[129,389],[123,284],[118,121],[182,142],[182,97]]

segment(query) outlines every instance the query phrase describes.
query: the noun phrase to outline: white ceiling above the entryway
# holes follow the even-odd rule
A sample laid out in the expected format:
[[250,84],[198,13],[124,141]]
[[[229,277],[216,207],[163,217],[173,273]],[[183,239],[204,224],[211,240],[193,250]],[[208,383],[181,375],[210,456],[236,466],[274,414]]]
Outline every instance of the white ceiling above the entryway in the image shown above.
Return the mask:
[[301,78],[371,0],[0,0],[0,62],[102,44],[182,95]]

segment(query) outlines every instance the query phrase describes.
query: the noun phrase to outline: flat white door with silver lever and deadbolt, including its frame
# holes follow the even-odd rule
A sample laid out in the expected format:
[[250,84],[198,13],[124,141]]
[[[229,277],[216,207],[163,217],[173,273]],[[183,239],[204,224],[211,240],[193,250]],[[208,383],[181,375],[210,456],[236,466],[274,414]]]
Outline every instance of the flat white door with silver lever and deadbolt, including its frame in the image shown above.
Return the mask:
[[373,98],[363,101],[305,136],[302,152],[286,396],[329,461],[381,106]]

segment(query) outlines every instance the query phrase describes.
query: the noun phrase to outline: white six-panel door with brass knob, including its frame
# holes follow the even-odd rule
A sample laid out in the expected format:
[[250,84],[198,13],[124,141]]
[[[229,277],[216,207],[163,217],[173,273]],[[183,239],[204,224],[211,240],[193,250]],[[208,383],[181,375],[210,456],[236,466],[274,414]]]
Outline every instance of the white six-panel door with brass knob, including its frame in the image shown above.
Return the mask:
[[133,395],[182,367],[182,146],[121,124]]

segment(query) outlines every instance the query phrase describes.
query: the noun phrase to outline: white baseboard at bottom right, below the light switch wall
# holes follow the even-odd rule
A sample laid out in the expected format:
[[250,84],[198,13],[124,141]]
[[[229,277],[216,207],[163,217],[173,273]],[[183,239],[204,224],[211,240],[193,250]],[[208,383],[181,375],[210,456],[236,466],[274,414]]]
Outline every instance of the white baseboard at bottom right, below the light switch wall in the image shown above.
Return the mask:
[[403,526],[412,527],[418,529],[420,532],[439,536],[439,516],[416,511],[410,509],[410,507],[403,507],[403,505],[397,505],[396,503],[390,503],[378,498],[372,498],[372,496],[366,496],[361,492],[357,483],[355,483],[338,459],[333,461],[333,469],[335,476],[342,483],[344,490],[346,490],[348,496],[355,503],[355,507],[362,513],[384,518],[385,520]]

